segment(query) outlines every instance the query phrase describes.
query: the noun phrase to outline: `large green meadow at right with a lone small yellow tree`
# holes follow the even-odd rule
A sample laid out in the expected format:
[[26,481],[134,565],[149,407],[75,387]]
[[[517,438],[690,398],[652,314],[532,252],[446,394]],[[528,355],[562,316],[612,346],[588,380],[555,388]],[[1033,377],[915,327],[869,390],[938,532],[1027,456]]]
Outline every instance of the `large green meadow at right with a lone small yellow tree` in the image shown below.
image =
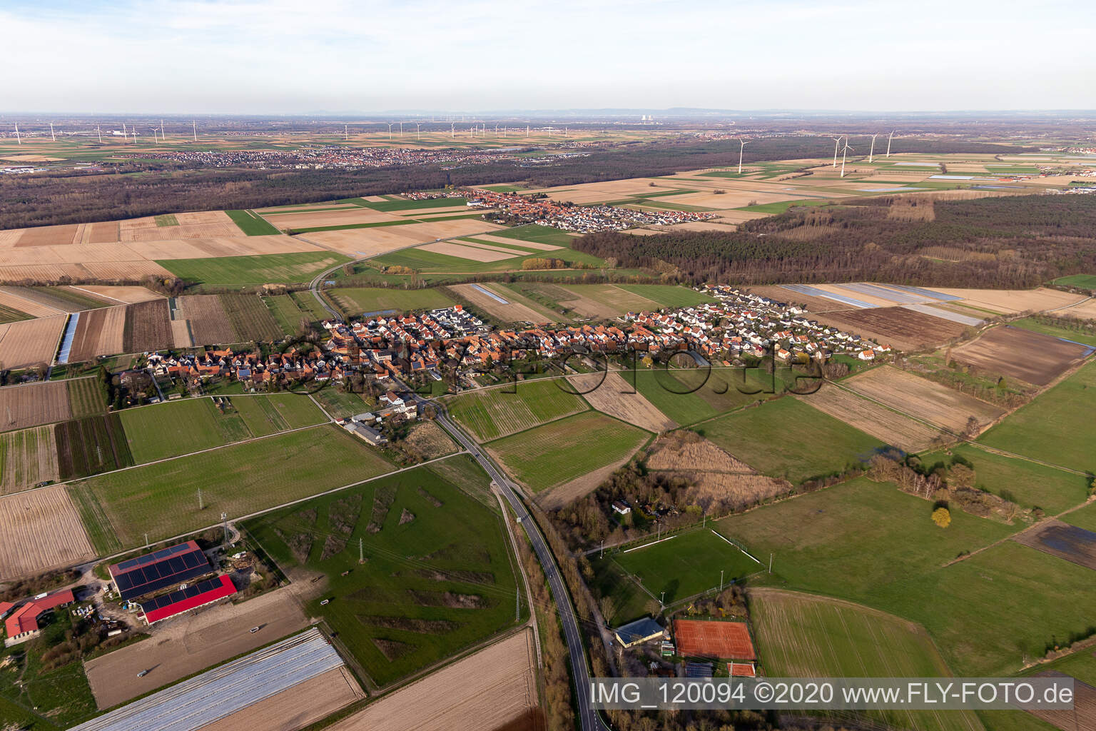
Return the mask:
[[[1017,672],[1047,643],[1091,626],[1092,571],[1004,541],[1017,527],[951,512],[860,478],[719,521],[755,556],[774,555],[766,584],[825,594],[922,624],[957,675]],[[1069,586],[1064,594],[1047,586]]]

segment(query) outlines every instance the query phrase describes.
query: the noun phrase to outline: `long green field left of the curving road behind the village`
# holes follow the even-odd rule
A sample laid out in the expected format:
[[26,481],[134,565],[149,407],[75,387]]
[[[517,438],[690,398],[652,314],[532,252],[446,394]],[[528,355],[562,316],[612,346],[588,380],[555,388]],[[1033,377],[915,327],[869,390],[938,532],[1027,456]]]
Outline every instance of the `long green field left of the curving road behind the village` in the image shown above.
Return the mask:
[[157,263],[178,277],[212,287],[307,283],[318,272],[350,259],[330,251],[212,259],[168,259]]

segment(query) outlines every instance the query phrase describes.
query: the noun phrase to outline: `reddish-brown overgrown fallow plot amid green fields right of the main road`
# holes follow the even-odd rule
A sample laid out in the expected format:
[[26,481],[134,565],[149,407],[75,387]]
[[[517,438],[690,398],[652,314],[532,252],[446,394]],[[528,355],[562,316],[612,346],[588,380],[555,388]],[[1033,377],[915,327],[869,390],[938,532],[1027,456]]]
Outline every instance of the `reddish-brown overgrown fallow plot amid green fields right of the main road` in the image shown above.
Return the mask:
[[690,504],[743,507],[791,490],[787,480],[765,477],[694,432],[674,432],[651,445],[647,468],[687,478]]

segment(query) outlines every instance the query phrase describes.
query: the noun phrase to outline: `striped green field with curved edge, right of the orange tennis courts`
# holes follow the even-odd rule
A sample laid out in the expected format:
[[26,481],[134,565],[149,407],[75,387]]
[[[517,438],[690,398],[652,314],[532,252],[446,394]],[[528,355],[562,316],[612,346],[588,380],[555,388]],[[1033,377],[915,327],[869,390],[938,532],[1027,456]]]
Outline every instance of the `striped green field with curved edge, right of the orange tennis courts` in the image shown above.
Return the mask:
[[[823,596],[758,589],[751,617],[766,675],[776,677],[948,677],[923,627]],[[872,712],[894,728],[981,731],[972,711]]]

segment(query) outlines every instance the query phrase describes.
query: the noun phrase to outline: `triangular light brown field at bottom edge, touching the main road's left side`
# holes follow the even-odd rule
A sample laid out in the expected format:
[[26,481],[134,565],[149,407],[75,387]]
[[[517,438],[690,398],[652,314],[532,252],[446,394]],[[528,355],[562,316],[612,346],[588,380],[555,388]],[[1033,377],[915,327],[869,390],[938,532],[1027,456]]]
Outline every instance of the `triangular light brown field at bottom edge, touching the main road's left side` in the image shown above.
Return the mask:
[[[539,713],[535,663],[532,632],[524,630],[370,704],[331,731],[509,728],[516,719]],[[543,727],[530,722],[520,728]]]

